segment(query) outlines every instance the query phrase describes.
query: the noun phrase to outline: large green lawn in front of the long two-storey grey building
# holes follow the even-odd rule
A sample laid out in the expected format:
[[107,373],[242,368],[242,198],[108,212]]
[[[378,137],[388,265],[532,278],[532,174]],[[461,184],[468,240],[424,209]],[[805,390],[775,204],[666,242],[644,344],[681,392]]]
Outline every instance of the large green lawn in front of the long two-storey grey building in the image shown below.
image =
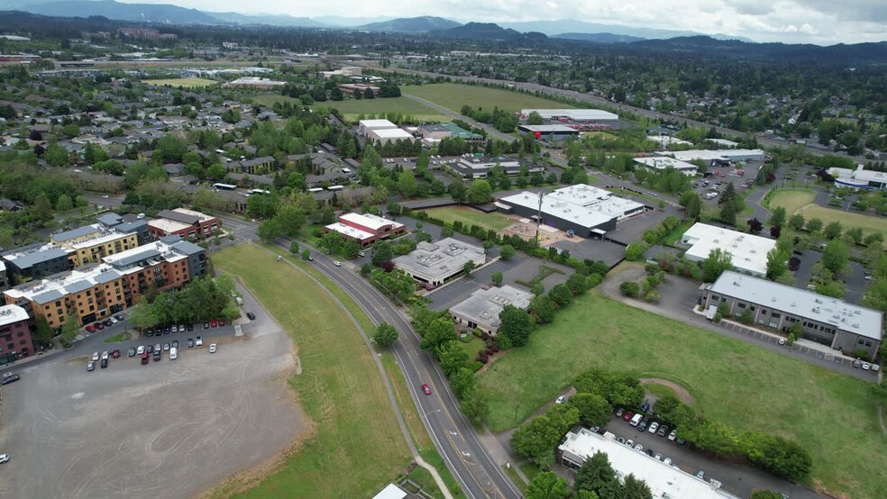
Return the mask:
[[597,293],[480,374],[490,429],[524,421],[588,367],[671,379],[713,421],[798,441],[813,458],[809,485],[846,497],[887,496],[887,438],[870,384]]

